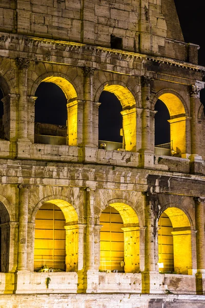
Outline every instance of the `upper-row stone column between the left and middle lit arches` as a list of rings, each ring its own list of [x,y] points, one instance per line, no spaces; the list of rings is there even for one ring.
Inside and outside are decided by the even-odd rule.
[[[93,75],[94,69],[84,67],[84,145],[93,147]]]

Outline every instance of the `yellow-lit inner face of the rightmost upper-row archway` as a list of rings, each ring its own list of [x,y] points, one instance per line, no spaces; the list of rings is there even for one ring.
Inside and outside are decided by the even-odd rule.
[[[180,99],[173,93],[164,93],[160,95],[159,100],[167,106],[170,114],[170,120],[168,120],[170,123],[169,142],[171,142],[172,154],[175,156],[181,156],[181,154],[186,153],[187,118],[185,107]],[[166,129],[166,127],[164,129]]]

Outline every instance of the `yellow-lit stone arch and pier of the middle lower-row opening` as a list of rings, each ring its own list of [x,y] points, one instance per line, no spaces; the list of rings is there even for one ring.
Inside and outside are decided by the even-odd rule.
[[[106,208],[104,208],[104,210],[101,212],[101,215],[102,214],[108,215],[108,213],[106,212],[106,209],[108,207],[114,208],[117,211],[117,213],[120,215],[122,222],[123,222],[123,227],[121,229],[124,232],[124,259],[122,260],[124,262],[124,269],[126,273],[136,273],[136,272],[139,272],[139,268],[140,268],[140,264],[139,264],[139,261],[140,261],[139,260],[139,221],[138,221],[138,217],[134,209],[128,204],[125,204],[124,202],[119,202],[119,201],[121,200],[119,199],[110,200],[108,202],[108,206],[106,206]],[[113,221],[115,221],[115,219]],[[101,223],[103,222],[101,221]],[[111,224],[112,224],[112,219],[111,219],[111,211],[110,211],[110,232],[111,232]],[[106,230],[104,230],[104,223],[103,223],[103,228],[101,229],[100,234],[103,235],[103,233],[105,232]],[[109,247],[112,247],[112,243],[111,243],[112,233],[109,234],[109,236],[110,236],[109,238],[110,246]],[[101,241],[101,243],[104,243],[104,242]]]

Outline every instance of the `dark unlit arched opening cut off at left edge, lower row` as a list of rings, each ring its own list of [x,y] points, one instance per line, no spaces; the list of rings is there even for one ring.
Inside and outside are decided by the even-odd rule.
[[[9,272],[10,224],[6,207],[0,202],[0,272]]]

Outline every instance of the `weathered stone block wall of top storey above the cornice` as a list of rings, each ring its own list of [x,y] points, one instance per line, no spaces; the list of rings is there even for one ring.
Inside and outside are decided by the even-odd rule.
[[[195,62],[183,42],[173,0],[77,1],[3,1],[0,4],[0,30],[19,34],[111,47],[111,36],[121,38],[129,51],[169,56]],[[177,36],[176,34],[177,33]],[[173,48],[170,48],[170,45]],[[120,44],[119,44],[120,45]],[[181,48],[183,47],[183,48]],[[170,52],[170,49],[172,50]],[[194,49],[193,49],[194,50]]]

